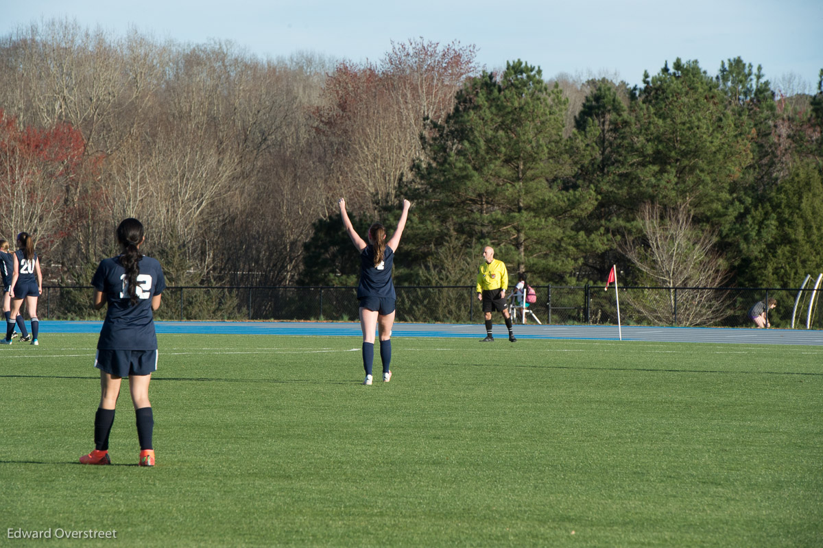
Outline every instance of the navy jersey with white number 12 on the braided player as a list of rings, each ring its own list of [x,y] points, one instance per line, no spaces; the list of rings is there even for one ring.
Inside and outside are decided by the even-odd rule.
[[[108,303],[98,350],[156,350],[157,334],[151,298],[165,290],[165,277],[160,262],[143,257],[137,276],[137,304],[128,297],[126,270],[119,257],[100,261],[91,285],[102,291]]]

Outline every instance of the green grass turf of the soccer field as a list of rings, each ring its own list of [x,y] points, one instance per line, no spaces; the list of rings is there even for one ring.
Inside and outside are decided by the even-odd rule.
[[[164,335],[147,469],[95,342],[0,348],[2,546],[823,544],[823,347]]]

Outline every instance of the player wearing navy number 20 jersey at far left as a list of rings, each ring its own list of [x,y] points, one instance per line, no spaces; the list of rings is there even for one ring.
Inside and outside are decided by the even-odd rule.
[[[37,341],[40,332],[40,320],[37,319],[37,298],[43,292],[43,273],[40,272],[40,258],[35,253],[35,240],[28,232],[21,232],[17,235],[17,247],[12,260],[14,261],[14,274],[12,275],[12,290],[9,295],[12,297],[12,311],[6,322],[6,338],[2,344],[12,344],[12,333],[14,333],[15,323],[20,327],[21,341],[31,341],[34,346],[40,345]],[[26,323],[20,314],[23,300],[26,300],[26,309],[29,310],[31,320],[31,337],[26,332]],[[12,321],[12,318],[15,318]]]

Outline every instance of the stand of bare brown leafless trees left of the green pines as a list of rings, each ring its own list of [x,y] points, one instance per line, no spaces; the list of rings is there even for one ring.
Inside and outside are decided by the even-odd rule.
[[[6,219],[58,231],[53,259],[72,281],[114,253],[124,216],[145,222],[176,281],[295,281],[312,223],[342,194],[361,210],[393,201],[423,118],[448,113],[477,68],[473,47],[422,39],[360,67],[306,52],[261,61],[230,42],[116,37],[67,19],[21,28],[0,52],[0,104],[18,125],[81,136],[70,176],[30,155],[4,164],[16,171],[7,186],[29,181],[8,193],[26,215]]]

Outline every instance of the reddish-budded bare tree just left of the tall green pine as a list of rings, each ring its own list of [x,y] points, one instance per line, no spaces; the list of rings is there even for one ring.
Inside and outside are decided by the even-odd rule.
[[[353,210],[396,201],[398,181],[421,154],[425,117],[443,118],[477,72],[475,48],[423,39],[393,44],[382,63],[341,63],[317,109],[335,143],[335,181]]]

